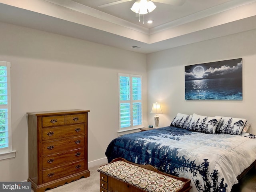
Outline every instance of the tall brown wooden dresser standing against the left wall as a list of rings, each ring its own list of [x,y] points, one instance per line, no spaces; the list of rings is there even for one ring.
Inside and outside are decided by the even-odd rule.
[[[89,177],[89,110],[28,112],[28,181],[34,192]]]

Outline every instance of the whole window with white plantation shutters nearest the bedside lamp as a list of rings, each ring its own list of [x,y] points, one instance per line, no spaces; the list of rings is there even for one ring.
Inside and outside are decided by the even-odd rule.
[[[142,128],[142,76],[118,74],[119,131]]]

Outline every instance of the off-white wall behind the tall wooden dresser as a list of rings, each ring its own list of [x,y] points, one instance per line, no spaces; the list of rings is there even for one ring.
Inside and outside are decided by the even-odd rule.
[[[84,109],[88,161],[105,158],[117,137],[118,73],[141,74],[147,124],[146,55],[0,23],[0,60],[11,62],[12,136],[16,158],[0,161],[0,181],[28,178],[26,112]]]

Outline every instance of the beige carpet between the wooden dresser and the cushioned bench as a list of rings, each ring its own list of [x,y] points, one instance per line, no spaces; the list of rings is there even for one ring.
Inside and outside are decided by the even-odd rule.
[[[65,185],[48,189],[45,192],[99,192],[100,173],[97,171],[99,166],[90,168],[90,177],[67,183]],[[33,192],[33,190],[31,190]]]

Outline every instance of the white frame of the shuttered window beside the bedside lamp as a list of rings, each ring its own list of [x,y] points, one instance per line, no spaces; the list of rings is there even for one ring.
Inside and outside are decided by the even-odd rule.
[[[130,83],[130,100],[126,100],[126,101],[121,101],[120,100],[120,76],[124,76],[124,77],[129,77],[129,81],[132,82],[132,78],[140,78],[141,80],[141,99],[140,100],[133,100],[132,98],[132,83]],[[142,85],[142,75],[136,75],[136,74],[124,74],[124,73],[118,73],[118,116],[119,116],[119,131],[118,132],[125,132],[125,131],[131,131],[131,130],[137,130],[140,128],[143,128],[143,106],[142,106],[142,89],[143,89],[143,85]],[[133,103],[137,103],[140,102],[141,104],[141,124],[134,126],[134,122],[133,122]],[[129,127],[124,127],[121,128],[121,112],[120,112],[120,104],[121,103],[129,103],[130,104],[130,126]]]

